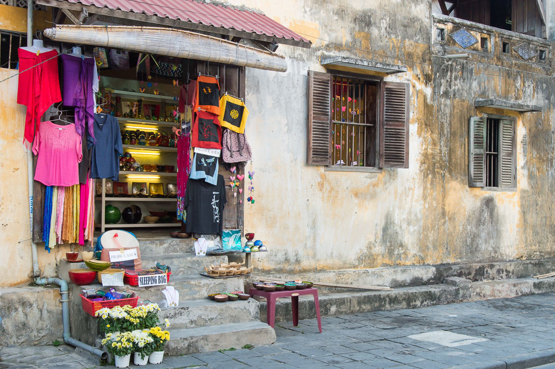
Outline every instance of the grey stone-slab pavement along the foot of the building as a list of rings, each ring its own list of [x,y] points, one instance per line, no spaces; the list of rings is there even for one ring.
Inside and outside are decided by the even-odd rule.
[[[555,294],[376,311],[276,326],[273,345],[166,357],[147,368],[509,369],[555,362]],[[228,349],[229,347],[223,347]],[[68,346],[2,348],[9,368],[94,368]],[[112,366],[104,366],[112,367]],[[131,366],[132,368],[139,368]]]

